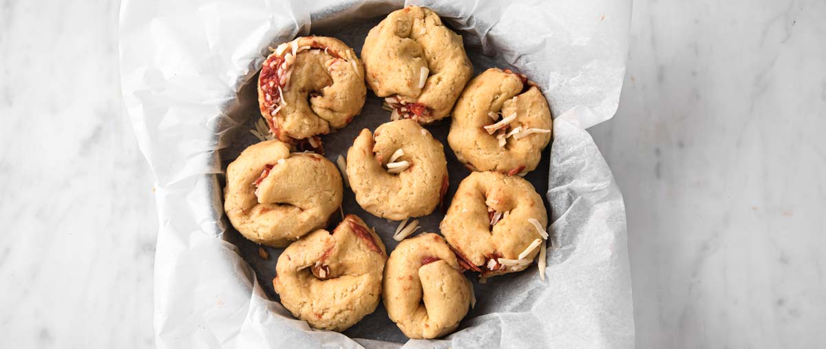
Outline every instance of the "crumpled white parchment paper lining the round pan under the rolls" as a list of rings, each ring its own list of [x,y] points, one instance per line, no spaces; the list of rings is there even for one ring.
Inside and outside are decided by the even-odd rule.
[[[364,36],[403,2],[130,2],[121,7],[121,75],[141,151],[157,178],[155,261],[158,347],[632,347],[634,323],[621,194],[584,127],[615,112],[624,74],[629,2],[409,2],[439,12],[463,35],[475,74],[525,73],[554,115],[553,146],[529,179],[553,222],[548,280],[535,265],[474,280],[477,306],[458,332],[406,341],[382,306],[344,334],[311,330],[273,293],[281,249],[240,237],[223,217],[222,170],[258,141],[253,82],[268,45],[296,35],[335,36],[360,52]],[[360,116],[322,137],[344,155],[363,127],[389,113],[368,92]],[[444,143],[453,193],[466,175],[447,145],[449,121],[428,127]],[[388,251],[397,222],[344,210],[376,227]],[[443,216],[420,218],[439,232]],[[335,223],[334,223],[335,224]]]

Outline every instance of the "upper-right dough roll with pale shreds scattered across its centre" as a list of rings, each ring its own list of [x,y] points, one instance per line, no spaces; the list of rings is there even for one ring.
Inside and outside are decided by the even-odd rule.
[[[510,70],[473,78],[453,110],[448,143],[474,171],[525,175],[551,141],[551,111],[535,84]]]

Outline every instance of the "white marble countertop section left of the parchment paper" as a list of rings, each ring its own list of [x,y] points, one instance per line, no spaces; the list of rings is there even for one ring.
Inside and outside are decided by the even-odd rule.
[[[0,2],[0,347],[151,347],[153,179],[117,2]]]

